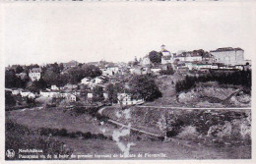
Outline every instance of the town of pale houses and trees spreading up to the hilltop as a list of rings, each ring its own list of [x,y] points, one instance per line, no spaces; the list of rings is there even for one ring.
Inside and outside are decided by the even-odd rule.
[[[6,92],[11,99],[9,104],[12,102],[11,106],[18,107],[27,104],[23,99],[44,104],[65,101],[68,104],[80,102],[83,105],[134,105],[162,96],[149,95],[152,97],[147,99],[145,94],[160,92],[159,86],[156,86],[156,90],[146,90],[143,94],[137,88],[141,83],[132,86],[136,82],[134,76],[151,76],[155,80],[156,77],[158,79],[170,76],[172,85],[177,87],[177,82],[185,77],[247,70],[251,70],[251,61],[244,59],[244,50],[241,48],[225,47],[210,52],[199,49],[171,53],[161,45],[160,51],[151,51],[145,57],[135,57],[134,61],[128,63],[100,61],[83,64],[73,60],[45,66],[9,66],[6,68]],[[155,86],[154,82],[148,84],[150,87]],[[169,97],[169,101],[172,98]]]

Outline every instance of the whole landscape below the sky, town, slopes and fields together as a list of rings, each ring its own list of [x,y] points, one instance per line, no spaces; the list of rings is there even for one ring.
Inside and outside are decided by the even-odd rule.
[[[128,63],[7,67],[6,149],[42,149],[37,159],[149,150],[204,159],[209,148],[210,157],[249,158],[251,62],[243,54],[230,47],[171,53],[162,45]],[[237,146],[243,153],[230,155]]]

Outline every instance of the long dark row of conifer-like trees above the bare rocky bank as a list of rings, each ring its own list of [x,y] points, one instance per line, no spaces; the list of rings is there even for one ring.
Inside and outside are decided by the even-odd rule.
[[[187,91],[194,87],[197,82],[219,82],[220,84],[242,85],[247,88],[251,87],[251,71],[235,71],[233,73],[216,73],[210,72],[207,75],[199,77],[189,77],[182,81],[176,82],[175,88],[177,92]]]

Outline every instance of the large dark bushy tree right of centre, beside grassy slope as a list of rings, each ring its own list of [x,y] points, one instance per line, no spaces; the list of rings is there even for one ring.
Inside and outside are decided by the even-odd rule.
[[[143,98],[153,101],[161,96],[160,88],[150,75],[135,75],[129,82],[130,92],[133,98]]]

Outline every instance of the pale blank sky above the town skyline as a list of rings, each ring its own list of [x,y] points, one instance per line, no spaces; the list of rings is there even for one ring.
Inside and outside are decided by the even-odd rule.
[[[256,52],[256,3],[41,3],[4,7],[5,66],[128,62],[160,51]],[[254,20],[254,21],[253,21]]]

